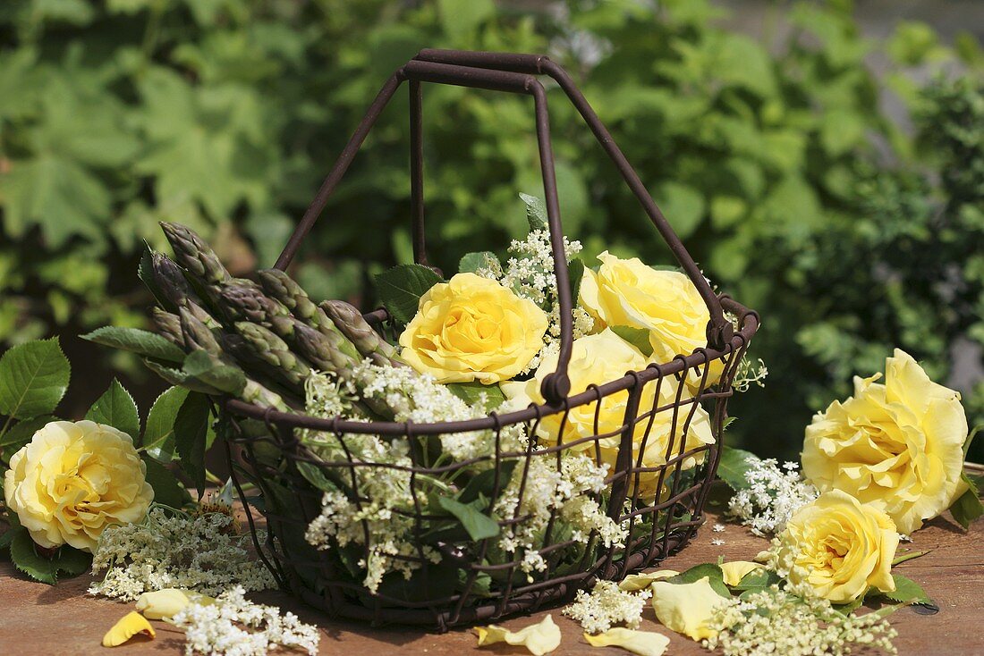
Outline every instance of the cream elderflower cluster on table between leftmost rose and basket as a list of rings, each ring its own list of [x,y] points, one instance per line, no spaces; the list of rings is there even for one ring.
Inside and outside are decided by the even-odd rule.
[[[139,524],[111,526],[99,536],[92,571],[107,569],[91,594],[134,601],[144,592],[183,588],[215,596],[230,585],[266,590],[276,583],[247,551],[230,514],[176,514],[155,507]]]

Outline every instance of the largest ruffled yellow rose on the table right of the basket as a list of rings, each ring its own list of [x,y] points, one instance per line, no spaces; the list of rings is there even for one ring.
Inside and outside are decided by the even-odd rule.
[[[948,507],[960,480],[967,417],[960,394],[929,380],[895,349],[881,375],[854,379],[854,395],[814,417],[803,444],[803,473],[821,491],[843,490],[881,507],[902,533]]]

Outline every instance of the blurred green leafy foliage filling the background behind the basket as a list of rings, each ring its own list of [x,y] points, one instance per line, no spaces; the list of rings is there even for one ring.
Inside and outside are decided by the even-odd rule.
[[[847,2],[775,5],[761,39],[700,0],[8,0],[0,5],[0,341],[139,325],[155,221],[234,270],[277,257],[385,79],[421,47],[548,52],[579,82],[695,258],[764,318],[767,388],[734,432],[794,451],[811,412],[898,346],[946,381],[984,343],[984,85],[972,38],[859,35]],[[780,9],[781,8],[781,11]],[[770,27],[769,27],[770,26]],[[890,62],[886,84],[865,66]],[[946,69],[921,88],[907,67]],[[956,74],[954,71],[958,71]],[[912,111],[903,130],[889,90]],[[551,121],[566,232],[588,257],[668,253],[563,94]],[[295,271],[367,298],[410,259],[406,94]],[[428,86],[432,261],[502,252],[541,187],[528,98]],[[984,386],[964,390],[984,420]]]

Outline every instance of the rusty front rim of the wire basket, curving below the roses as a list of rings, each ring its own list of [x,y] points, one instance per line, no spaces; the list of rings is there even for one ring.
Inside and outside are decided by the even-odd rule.
[[[551,414],[563,412],[571,407],[596,401],[601,397],[631,388],[637,382],[645,384],[656,378],[679,374],[686,369],[698,367],[706,362],[716,360],[728,353],[734,352],[737,349],[746,347],[761,325],[758,313],[754,310],[749,310],[729,296],[722,295],[720,301],[721,306],[725,310],[735,313],[741,323],[741,328],[734,332],[730,343],[725,348],[720,350],[709,347],[698,348],[690,355],[677,355],[670,362],[650,364],[646,369],[628,372],[620,379],[609,381],[603,385],[588,388],[585,391],[568,396],[562,403],[530,404],[523,409],[504,414],[490,412],[488,416],[476,419],[419,424],[412,422],[361,422],[341,419],[339,417],[325,419],[322,417],[312,417],[304,413],[281,412],[272,407],[247,403],[246,401],[231,397],[223,399],[220,405],[223,409],[234,415],[261,420],[267,424],[281,428],[302,428],[338,435],[405,436],[410,433],[413,435],[441,435],[499,429],[503,426],[535,421]]]

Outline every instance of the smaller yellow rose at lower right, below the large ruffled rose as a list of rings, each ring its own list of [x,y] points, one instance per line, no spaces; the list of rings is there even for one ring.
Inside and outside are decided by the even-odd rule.
[[[869,587],[895,589],[898,533],[888,514],[833,490],[801,507],[778,536],[777,569],[818,597],[846,604]]]

